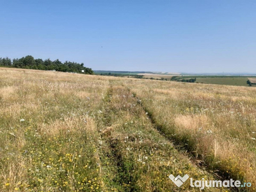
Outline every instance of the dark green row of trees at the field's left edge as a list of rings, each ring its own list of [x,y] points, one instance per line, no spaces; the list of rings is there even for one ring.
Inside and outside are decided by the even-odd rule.
[[[60,60],[51,61],[50,59],[34,59],[33,56],[26,56],[13,60],[8,57],[0,58],[0,66],[93,74],[92,68],[84,67],[84,63],[70,61],[62,63]]]

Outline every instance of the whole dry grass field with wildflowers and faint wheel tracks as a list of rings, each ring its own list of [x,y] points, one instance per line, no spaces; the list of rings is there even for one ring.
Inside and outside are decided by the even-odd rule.
[[[255,93],[0,68],[0,191],[200,191],[171,173],[256,191]]]

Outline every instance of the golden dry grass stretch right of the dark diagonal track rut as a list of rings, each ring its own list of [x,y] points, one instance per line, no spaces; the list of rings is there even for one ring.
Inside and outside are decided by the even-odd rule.
[[[255,186],[255,88],[146,81],[127,86],[166,138],[219,175]]]

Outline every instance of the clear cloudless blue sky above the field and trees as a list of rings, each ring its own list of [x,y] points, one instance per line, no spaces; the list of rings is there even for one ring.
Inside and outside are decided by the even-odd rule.
[[[256,1],[0,0],[0,57],[256,73]]]

